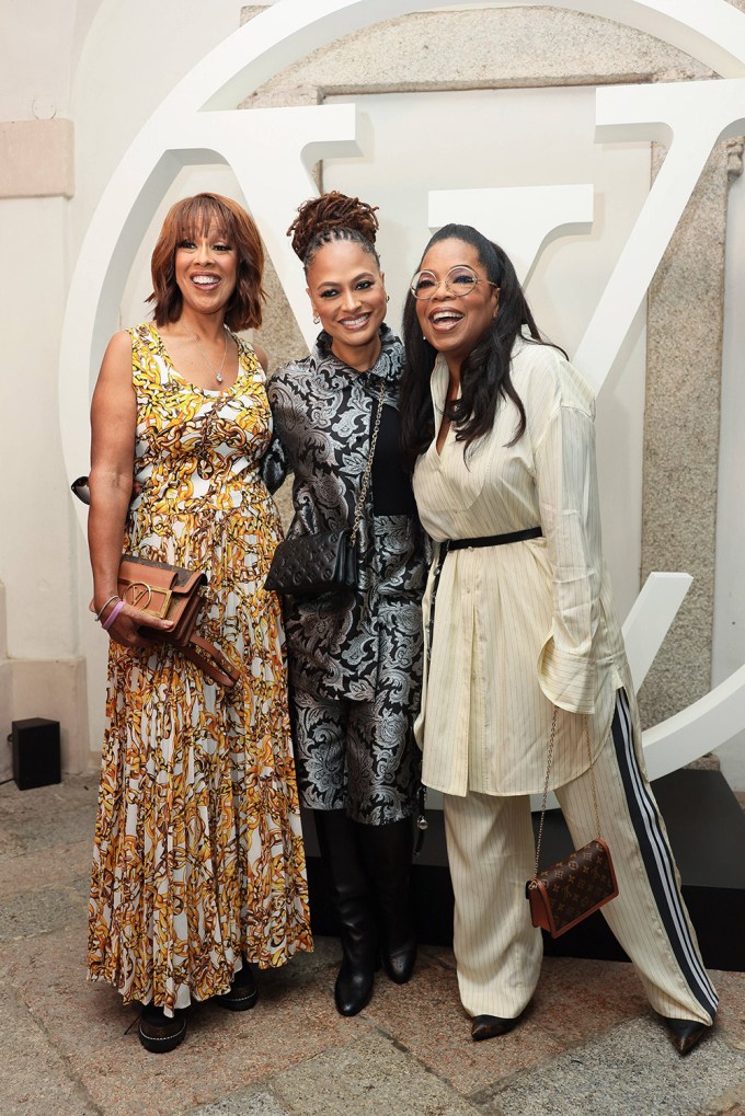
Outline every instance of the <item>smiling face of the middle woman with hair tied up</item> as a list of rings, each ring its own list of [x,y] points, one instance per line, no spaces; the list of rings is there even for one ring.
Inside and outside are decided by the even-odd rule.
[[[375,257],[353,240],[333,240],[313,257],[307,280],[313,311],[332,338],[334,356],[352,368],[370,368],[385,318],[384,276]]]

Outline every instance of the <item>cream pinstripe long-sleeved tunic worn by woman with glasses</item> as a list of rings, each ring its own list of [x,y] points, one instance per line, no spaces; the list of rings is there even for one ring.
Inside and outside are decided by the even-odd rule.
[[[537,539],[450,551],[437,586],[437,562],[430,571],[417,739],[424,783],[449,795],[543,790],[554,705],[552,788],[588,769],[576,714],[588,714],[593,757],[608,740],[620,686],[638,718],[601,554],[592,389],[556,349],[523,338],[512,377],[527,415],[523,437],[509,445],[518,413],[500,401],[490,434],[465,452],[451,426],[441,454],[433,442],[413,478],[436,542],[543,529]],[[439,356],[436,416],[447,387]]]

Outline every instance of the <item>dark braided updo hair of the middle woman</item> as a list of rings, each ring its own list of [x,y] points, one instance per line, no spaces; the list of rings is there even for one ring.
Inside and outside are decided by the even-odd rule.
[[[380,267],[380,257],[375,251],[379,229],[376,209],[378,205],[367,205],[359,198],[347,198],[337,190],[303,202],[287,235],[293,238],[293,251],[303,263],[306,276],[318,249],[335,240],[351,240],[360,244]]]

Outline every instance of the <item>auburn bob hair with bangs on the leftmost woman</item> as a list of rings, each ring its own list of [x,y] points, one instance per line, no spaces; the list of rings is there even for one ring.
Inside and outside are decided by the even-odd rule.
[[[183,299],[175,281],[175,253],[183,240],[203,235],[217,225],[236,252],[236,289],[226,307],[228,329],[257,329],[261,325],[261,302],[266,294],[264,246],[256,224],[237,202],[221,194],[195,194],[184,198],[169,210],[151,260],[153,292],[147,298],[154,306],[156,326],[178,321]]]

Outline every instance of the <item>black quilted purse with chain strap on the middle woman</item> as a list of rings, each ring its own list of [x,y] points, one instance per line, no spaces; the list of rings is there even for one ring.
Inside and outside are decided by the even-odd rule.
[[[357,535],[362,509],[370,487],[372,461],[383,414],[384,393],[385,379],[380,385],[378,414],[370,440],[367,464],[354,509],[352,529],[344,527],[333,531],[319,531],[316,535],[298,535],[294,539],[280,542],[274,552],[265,588],[293,597],[316,597],[333,589],[356,589]]]

